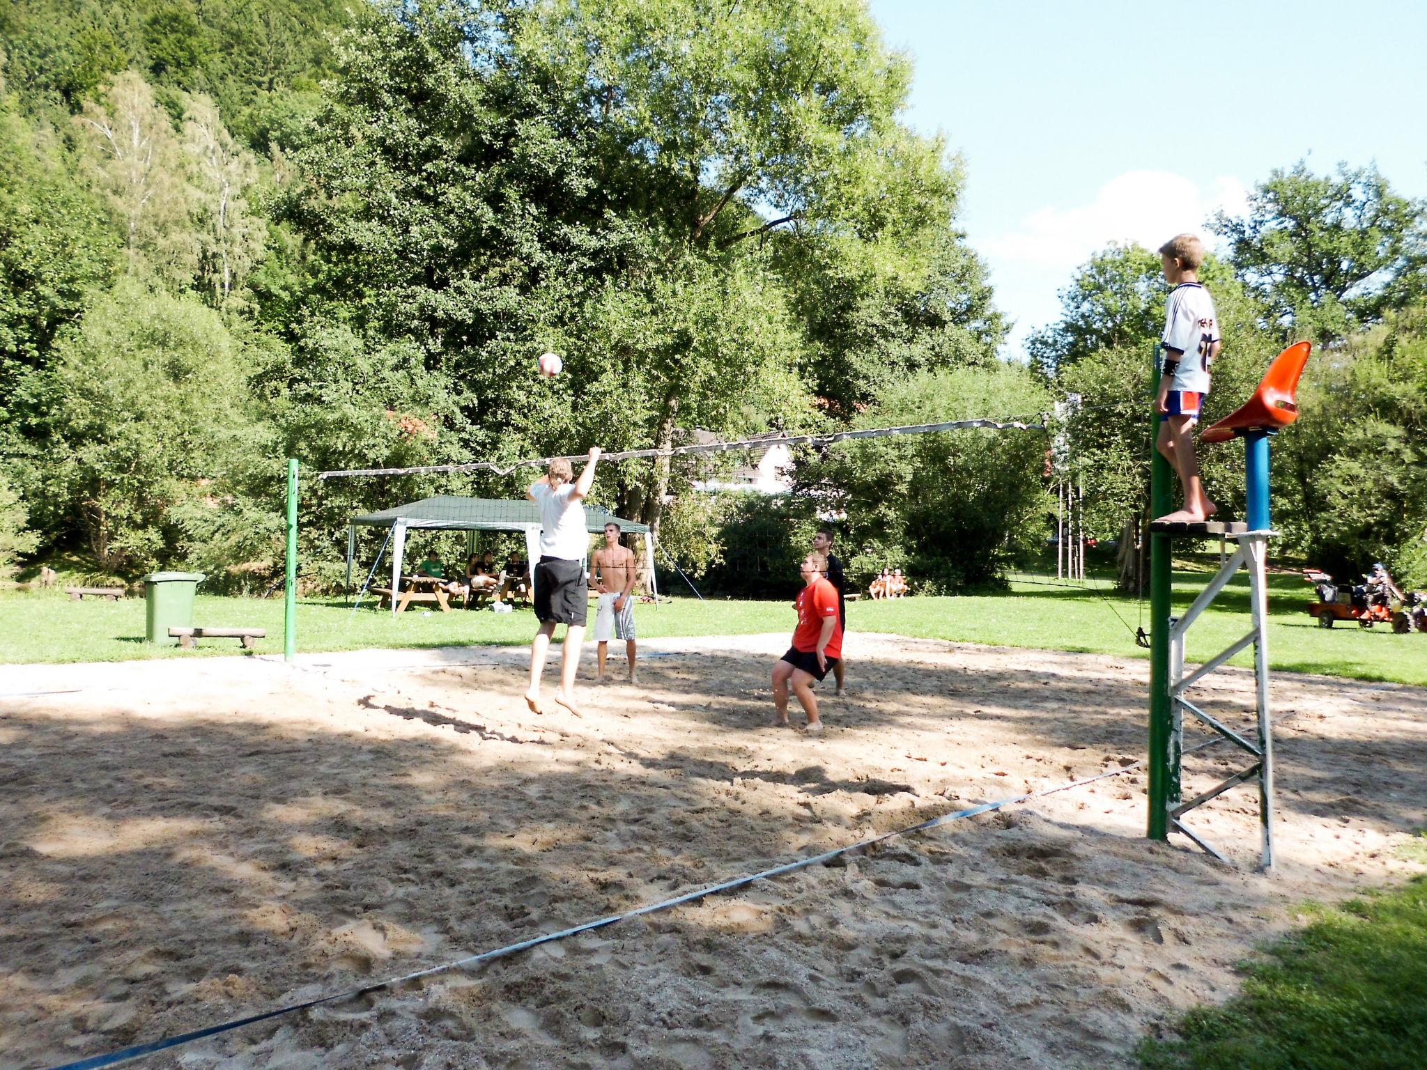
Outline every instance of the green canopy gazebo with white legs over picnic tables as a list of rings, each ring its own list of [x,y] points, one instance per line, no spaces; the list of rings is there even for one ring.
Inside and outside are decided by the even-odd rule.
[[[654,532],[648,524],[626,521],[615,516],[608,509],[598,505],[585,504],[585,529],[602,534],[609,522],[619,525],[622,532],[644,535],[644,565],[649,578],[649,593],[656,595],[654,578]],[[522,531],[525,532],[525,554],[531,562],[531,593],[534,593],[535,562],[539,561],[539,506],[532,501],[514,501],[505,498],[462,498],[454,494],[442,494],[435,498],[422,498],[418,502],[407,502],[381,512],[367,512],[352,516],[347,528],[347,589],[352,585],[352,561],[357,556],[357,528],[388,528],[391,534],[391,589],[401,586],[401,561],[407,549],[407,532],[412,528],[422,531]],[[384,544],[385,545],[385,544]],[[468,554],[469,554],[468,542]],[[381,552],[377,559],[380,562]],[[375,571],[377,564],[372,564]],[[397,599],[391,599],[392,612],[397,611]]]

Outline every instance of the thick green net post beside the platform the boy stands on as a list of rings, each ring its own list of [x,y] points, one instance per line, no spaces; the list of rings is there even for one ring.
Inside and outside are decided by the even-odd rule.
[[[1152,382],[1159,388],[1159,347],[1154,347]],[[1173,509],[1173,478],[1169,461],[1154,442],[1159,438],[1160,417],[1150,409],[1150,515],[1163,516]],[[1169,743],[1172,710],[1169,696],[1169,615],[1170,615],[1170,539],[1169,535],[1149,535],[1150,544],[1150,813],[1152,840],[1169,839],[1169,798],[1172,792]]]

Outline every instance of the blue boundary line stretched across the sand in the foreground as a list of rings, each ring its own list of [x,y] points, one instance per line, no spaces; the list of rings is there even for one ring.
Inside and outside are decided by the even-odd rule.
[[[1209,740],[1209,745],[1219,742],[1217,739]],[[1206,745],[1200,745],[1206,746]],[[1200,748],[1193,748],[1194,750]],[[1187,752],[1186,752],[1187,753]],[[1006,806],[1015,806],[1016,803],[1027,802],[1029,799],[1040,799],[1047,795],[1055,795],[1056,792],[1067,792],[1072,788],[1083,788],[1086,785],[1095,783],[1096,780],[1106,780],[1112,776],[1123,776],[1124,773],[1137,769],[1144,765],[1143,759],[1120,769],[1112,769],[1107,773],[1097,773],[1096,776],[1086,778],[1085,780],[1075,780],[1072,783],[1060,785],[1059,788],[1046,788],[1039,792],[1026,792],[1025,795],[1017,795],[1010,799],[1000,799],[999,802],[980,803],[979,806],[969,806],[963,810],[953,810],[952,813],[943,813],[940,817],[929,817],[918,825],[910,825],[905,829],[896,829],[893,832],[883,832],[879,836],[872,836],[865,840],[858,840],[856,843],[849,843],[845,847],[833,847],[822,855],[813,855],[812,857],[798,859],[796,862],[786,862],[782,866],[773,866],[772,869],[759,870],[758,873],[749,873],[742,877],[733,877],[732,880],[725,880],[718,885],[711,885],[709,887],[698,889],[696,892],[685,892],[682,896],[675,896],[674,899],[665,899],[658,903],[649,903],[645,906],[634,907],[632,910],[625,910],[624,913],[609,914],[608,917],[599,917],[594,922],[584,922],[581,924],[572,926],[569,929],[561,929],[554,933],[544,933],[541,936],[534,936],[529,940],[521,940],[519,943],[507,944],[505,947],[497,947],[491,952],[481,952],[479,954],[471,954],[464,959],[455,959],[452,962],[441,963],[440,966],[428,966],[424,970],[414,970],[412,973],[404,973],[400,977],[388,977],[387,980],[377,982],[375,984],[364,984],[360,989],[347,989],[345,992],[337,992],[331,996],[320,996],[317,999],[304,1000],[301,1003],[290,1003],[274,1010],[263,1012],[261,1014],[250,1014],[243,1019],[234,1019],[231,1021],[224,1021],[217,1026],[208,1026],[205,1029],[198,1029],[191,1033],[180,1033],[177,1036],[164,1037],[160,1040],[151,1040],[147,1044],[134,1044],[131,1047],[124,1047],[117,1051],[110,1051],[103,1056],[91,1056],[88,1059],[81,1059],[76,1063],[61,1063],[50,1067],[49,1070],[100,1070],[100,1067],[118,1066],[120,1063],[127,1063],[134,1059],[141,1059],[144,1056],[151,1056],[157,1051],[164,1051],[170,1047],[178,1047],[180,1044],[188,1044],[194,1040],[203,1040],[204,1037],[218,1036],[220,1033],[228,1033],[234,1029],[241,1029],[243,1026],[251,1026],[258,1021],[267,1021],[268,1019],[281,1017],[284,1014],[293,1014],[298,1010],[310,1010],[313,1007],[320,1007],[325,1003],[338,1003],[342,1000],[357,999],[358,996],[365,996],[371,992],[380,992],[382,989],[391,989],[407,982],[418,980],[421,977],[431,977],[437,973],[448,973],[450,970],[464,969],[467,966],[477,966],[479,963],[494,962],[495,959],[505,959],[511,954],[519,954],[521,952],[528,952],[532,947],[539,947],[545,943],[554,943],[555,940],[564,940],[568,936],[578,936],[579,933],[588,933],[595,929],[604,929],[605,926],[615,924],[618,922],[626,922],[631,917],[639,917],[642,914],[652,914],[659,910],[668,910],[675,906],[682,906],[684,903],[694,903],[706,896],[719,895],[722,892],[732,892],[735,889],[743,887],[753,883],[755,880],[766,880],[769,877],[779,877],[785,873],[793,873],[799,869],[806,869],[808,866],[816,866],[823,862],[829,862],[839,855],[849,855],[852,852],[865,850],[876,843],[883,843],[889,839],[898,836],[909,836],[915,832],[926,832],[928,829],[935,829],[940,825],[949,825],[955,820],[962,820],[965,817],[975,817],[982,813],[992,813],[993,810],[1000,810]]]

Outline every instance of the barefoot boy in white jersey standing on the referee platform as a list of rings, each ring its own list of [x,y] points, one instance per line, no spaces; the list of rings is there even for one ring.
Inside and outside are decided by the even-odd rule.
[[[1169,524],[1202,524],[1213,516],[1216,506],[1204,494],[1199,478],[1199,458],[1194,455],[1194,424],[1209,394],[1209,370],[1219,355],[1222,340],[1214,300],[1199,281],[1199,267],[1204,263],[1204,245],[1193,234],[1177,234],[1159,250],[1164,281],[1173,290],[1164,312],[1164,367],[1160,374],[1154,411],[1160,414],[1156,448],[1164,455],[1180,486],[1184,488],[1184,508],[1156,521]]]

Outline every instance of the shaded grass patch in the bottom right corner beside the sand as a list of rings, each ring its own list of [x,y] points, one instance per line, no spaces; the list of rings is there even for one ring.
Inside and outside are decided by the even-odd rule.
[[[1416,1070],[1427,1050],[1427,877],[1339,907],[1243,966],[1243,992],[1147,1039],[1146,1070]]]

